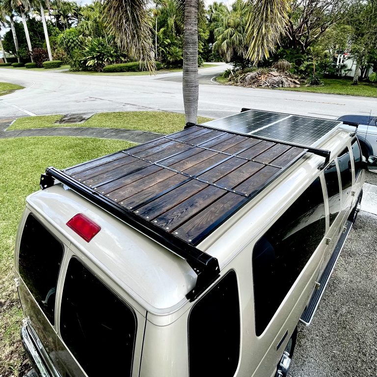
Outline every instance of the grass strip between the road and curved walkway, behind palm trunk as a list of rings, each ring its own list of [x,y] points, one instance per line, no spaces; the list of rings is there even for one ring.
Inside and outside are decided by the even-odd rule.
[[[159,134],[172,134],[185,126],[185,115],[162,111],[104,112],[93,115],[84,123],[54,124],[62,115],[42,115],[18,118],[8,130],[26,130],[45,127],[100,127],[142,130]],[[210,118],[198,117],[198,123],[208,122]]]

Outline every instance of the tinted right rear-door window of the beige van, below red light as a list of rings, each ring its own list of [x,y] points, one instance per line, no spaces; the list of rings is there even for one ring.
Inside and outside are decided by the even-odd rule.
[[[89,377],[131,375],[135,314],[76,258],[64,282],[60,333]]]

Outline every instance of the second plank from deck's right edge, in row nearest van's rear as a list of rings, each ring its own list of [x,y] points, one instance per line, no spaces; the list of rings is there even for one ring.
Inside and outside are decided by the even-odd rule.
[[[221,188],[209,186],[189,197],[181,204],[178,204],[170,211],[156,217],[153,222],[171,232],[191,217],[195,216],[198,212],[202,211],[203,208],[212,204],[219,197],[225,195],[226,192],[226,190]]]

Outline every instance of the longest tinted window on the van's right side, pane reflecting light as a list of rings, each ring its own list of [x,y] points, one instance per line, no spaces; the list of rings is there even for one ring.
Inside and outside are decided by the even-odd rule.
[[[317,178],[277,219],[253,249],[255,329],[266,329],[326,230]]]

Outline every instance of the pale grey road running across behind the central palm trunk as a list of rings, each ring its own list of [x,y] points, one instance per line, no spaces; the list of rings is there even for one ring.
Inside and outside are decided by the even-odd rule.
[[[369,114],[376,98],[214,85],[225,65],[199,70],[199,115],[219,118],[242,107],[336,118]],[[26,89],[0,97],[0,117],[69,112],[162,109],[184,112],[182,73],[156,76],[84,76],[63,72],[0,69],[0,81]],[[205,83],[206,82],[206,83]]]

